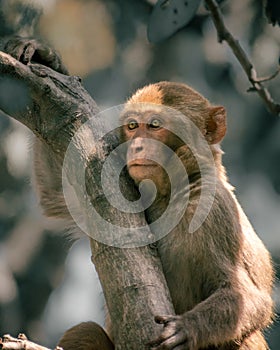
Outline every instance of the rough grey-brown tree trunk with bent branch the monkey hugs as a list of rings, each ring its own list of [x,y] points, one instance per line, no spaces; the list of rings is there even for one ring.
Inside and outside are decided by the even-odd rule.
[[[6,83],[13,87],[9,90],[9,96],[1,93],[0,109],[31,129],[36,137],[52,149],[60,162],[63,161],[75,132],[89,118],[95,116],[91,123],[93,127],[86,127],[82,137],[75,142],[75,157],[65,169],[66,175],[76,182],[75,192],[81,208],[84,209],[84,215],[87,209],[84,194],[79,187],[80,179],[75,171],[77,159],[88,164],[88,174],[91,176],[86,178],[86,187],[89,189],[90,201],[93,206],[101,209],[104,217],[126,227],[145,225],[143,213],[126,215],[116,211],[108,205],[105,196],[100,192],[100,174],[97,169],[102,168],[106,156],[117,140],[113,135],[102,141],[98,140],[97,131],[103,127],[102,120],[95,102],[83,89],[79,79],[64,76],[37,64],[23,65],[2,52],[0,74],[2,87]],[[7,98],[15,101],[15,104],[11,106],[6,103]],[[125,191],[133,197],[135,189],[131,183],[125,177],[120,181]],[[102,231],[102,225],[97,229]],[[93,239],[91,249],[92,260],[111,315],[116,348],[144,349],[145,344],[157,336],[158,328],[161,327],[155,324],[154,315],[174,314],[155,249],[150,246],[116,248]]]

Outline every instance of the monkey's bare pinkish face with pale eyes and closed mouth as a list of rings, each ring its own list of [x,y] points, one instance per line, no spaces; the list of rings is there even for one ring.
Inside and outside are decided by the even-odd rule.
[[[136,183],[151,179],[159,185],[172,151],[182,141],[166,128],[166,116],[155,111],[126,113],[123,125],[124,141],[131,141],[126,154],[130,176]]]

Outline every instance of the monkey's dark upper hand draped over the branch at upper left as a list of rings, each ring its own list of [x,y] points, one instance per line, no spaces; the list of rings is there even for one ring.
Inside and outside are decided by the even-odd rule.
[[[40,63],[59,73],[68,74],[58,53],[39,40],[15,36],[5,42],[3,51],[24,64]]]

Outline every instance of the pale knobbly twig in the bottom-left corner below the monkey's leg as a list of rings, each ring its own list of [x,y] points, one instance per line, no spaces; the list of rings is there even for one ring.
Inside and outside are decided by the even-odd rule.
[[[24,334],[19,334],[17,338],[11,337],[9,334],[0,338],[0,349],[3,350],[50,350],[44,346],[33,343],[27,339]],[[56,347],[55,350],[63,350]]]

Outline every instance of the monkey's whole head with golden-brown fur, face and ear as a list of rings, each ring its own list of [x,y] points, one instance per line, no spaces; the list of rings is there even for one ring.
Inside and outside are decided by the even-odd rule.
[[[137,184],[151,179],[160,190],[166,183],[164,169],[173,166],[169,162],[172,154],[186,143],[181,155],[190,175],[199,170],[197,155],[192,153],[197,153],[197,140],[202,138],[206,143],[202,142],[201,147],[209,149],[222,140],[226,131],[222,106],[212,106],[186,85],[169,82],[138,90],[127,102],[121,120],[122,141],[131,141],[126,153],[130,176]],[[176,169],[171,170],[175,174]]]

